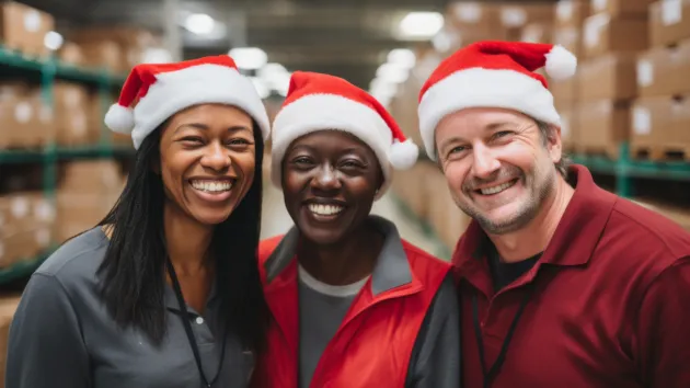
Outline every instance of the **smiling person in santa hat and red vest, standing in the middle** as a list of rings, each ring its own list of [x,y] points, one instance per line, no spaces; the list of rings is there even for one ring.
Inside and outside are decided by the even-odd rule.
[[[292,76],[273,130],[272,179],[296,226],[260,246],[274,322],[254,386],[459,387],[449,264],[370,215],[416,146],[371,95],[311,72]]]

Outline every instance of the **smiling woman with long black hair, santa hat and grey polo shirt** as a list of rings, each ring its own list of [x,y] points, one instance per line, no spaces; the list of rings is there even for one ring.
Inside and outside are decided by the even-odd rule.
[[[105,123],[131,134],[134,169],[103,221],[32,276],[5,387],[245,387],[268,317],[261,99],[228,56],[140,65]]]

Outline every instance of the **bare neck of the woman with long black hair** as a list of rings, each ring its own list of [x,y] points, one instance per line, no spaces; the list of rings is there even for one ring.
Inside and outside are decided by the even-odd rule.
[[[214,228],[202,225],[183,214],[176,206],[165,204],[163,209],[165,241],[170,261],[179,276],[204,272]]]

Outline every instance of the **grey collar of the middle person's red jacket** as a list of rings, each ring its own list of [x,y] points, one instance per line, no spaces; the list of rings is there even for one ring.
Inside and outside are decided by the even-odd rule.
[[[369,216],[369,220],[384,235],[383,248],[371,274],[371,293],[377,296],[412,283],[412,270],[395,225],[378,216]],[[298,241],[299,230],[294,226],[264,263],[268,283],[295,259]]]

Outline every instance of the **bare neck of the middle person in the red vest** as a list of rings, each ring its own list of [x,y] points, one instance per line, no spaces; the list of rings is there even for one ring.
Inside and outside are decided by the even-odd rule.
[[[299,263],[317,279],[330,285],[356,283],[373,271],[383,236],[366,224],[357,232],[334,244],[322,246],[302,239]]]

